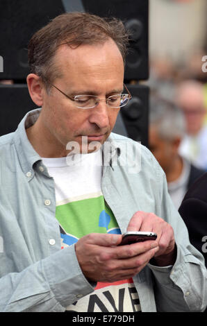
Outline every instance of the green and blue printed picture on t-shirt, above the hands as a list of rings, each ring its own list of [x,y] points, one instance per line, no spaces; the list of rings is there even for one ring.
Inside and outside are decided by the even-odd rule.
[[[62,229],[63,247],[76,243],[79,238],[92,232],[121,234],[103,195],[57,206],[56,218]]]

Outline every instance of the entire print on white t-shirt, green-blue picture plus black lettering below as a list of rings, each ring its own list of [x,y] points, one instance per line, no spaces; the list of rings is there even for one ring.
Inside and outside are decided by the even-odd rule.
[[[99,194],[94,198],[58,205],[56,218],[60,224],[62,248],[71,246],[79,238],[91,232],[121,233],[113,212],[105,203],[104,196]],[[94,293],[74,302],[67,307],[67,310],[140,311],[140,301],[132,279],[114,283],[98,282]]]

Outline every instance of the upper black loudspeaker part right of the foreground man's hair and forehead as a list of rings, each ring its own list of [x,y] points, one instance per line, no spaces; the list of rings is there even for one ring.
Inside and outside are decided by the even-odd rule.
[[[85,11],[122,19],[131,32],[124,80],[149,78],[149,0],[82,0]]]

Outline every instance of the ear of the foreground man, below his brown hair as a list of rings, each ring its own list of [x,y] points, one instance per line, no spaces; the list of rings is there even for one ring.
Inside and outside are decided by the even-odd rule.
[[[26,83],[31,99],[38,107],[41,107],[43,103],[43,85],[40,77],[35,74],[29,74],[26,78]]]

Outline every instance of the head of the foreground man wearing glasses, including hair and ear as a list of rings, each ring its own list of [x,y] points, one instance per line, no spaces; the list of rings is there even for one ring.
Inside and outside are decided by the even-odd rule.
[[[33,36],[28,89],[42,106],[38,132],[54,147],[69,141],[81,146],[82,136],[101,144],[108,138],[119,108],[110,108],[106,98],[124,88],[126,45],[121,22],[81,12],[60,15]],[[101,101],[95,108],[77,108],[74,96],[83,94]]]

